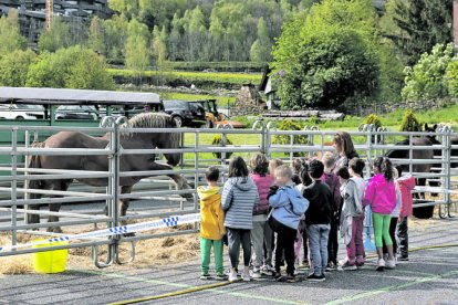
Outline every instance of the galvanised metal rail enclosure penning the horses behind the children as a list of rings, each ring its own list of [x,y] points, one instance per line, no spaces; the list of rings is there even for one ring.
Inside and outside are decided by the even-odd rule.
[[[166,235],[195,233],[198,231],[198,222],[174,231],[156,232],[154,230],[144,233],[114,234],[72,241],[66,245],[46,246],[33,249],[21,246],[18,243],[18,234],[35,234],[43,236],[65,238],[71,233],[89,232],[95,230],[94,225],[113,229],[119,228],[125,222],[142,223],[147,220],[162,220],[171,215],[186,215],[198,213],[198,198],[195,189],[202,185],[205,169],[210,165],[217,165],[223,173],[222,181],[227,177],[228,156],[237,155],[248,159],[253,152],[264,152],[271,158],[281,158],[290,164],[296,156],[315,157],[324,151],[334,151],[330,145],[336,132],[319,130],[316,127],[305,127],[303,130],[277,130],[275,124],[257,122],[252,129],[232,129],[230,126],[219,126],[216,129],[190,128],[131,128],[124,127],[114,119],[105,119],[110,124],[105,127],[49,127],[49,126],[0,126],[1,133],[10,133],[11,144],[0,147],[0,155],[9,158],[9,162],[0,166],[0,233],[11,235],[11,243],[0,245],[0,256],[34,253],[50,249],[69,249],[91,246],[93,261],[96,266],[103,267],[112,263],[123,263],[119,257],[119,244],[131,243],[131,257],[135,256],[135,241],[153,239]],[[117,122],[119,123],[119,122]],[[80,132],[92,136],[102,136],[108,139],[107,145],[98,148],[42,148],[32,145],[34,140],[55,135],[59,132]],[[145,133],[178,135],[180,146],[177,148],[131,148],[121,144],[125,133]],[[350,132],[355,149],[365,160],[365,177],[371,175],[371,165],[374,158],[386,155],[391,150],[408,151],[408,157],[394,159],[399,165],[405,165],[415,178],[424,178],[435,182],[437,187],[421,187],[416,192],[438,193],[437,197],[428,196],[427,200],[416,203],[415,208],[439,206],[441,218],[454,217],[456,212],[456,193],[458,185],[458,159],[452,151],[458,149],[452,140],[458,135],[448,127],[441,127],[427,133],[396,133],[386,129],[374,130],[372,126],[362,126],[357,132]],[[208,138],[220,136],[218,144],[208,144]],[[228,145],[228,138],[231,145]],[[288,138],[288,144],[274,144],[278,137]],[[302,137],[298,143],[298,137]],[[304,143],[304,137],[306,141]],[[413,145],[416,137],[435,137],[434,145]],[[408,139],[407,144],[396,145]],[[283,141],[284,143],[284,141]],[[418,157],[417,151],[434,150],[431,158]],[[146,169],[132,168],[125,170],[121,167],[122,158],[133,158],[136,155],[154,155],[154,162],[165,165],[163,156],[167,154],[181,154],[179,164],[173,169]],[[106,170],[59,169],[59,168],[31,168],[28,159],[32,156],[64,156],[69,161],[79,156],[98,156],[107,159]],[[25,157],[25,161],[22,161]],[[419,171],[421,165],[430,165],[427,172]],[[407,172],[406,171],[406,172]],[[186,179],[190,188],[181,188],[167,176],[180,176]],[[124,179],[139,180],[133,187],[132,192],[124,192],[119,181]],[[143,179],[142,179],[143,178]],[[106,186],[85,186],[85,179],[105,179]],[[69,189],[40,189],[31,188],[34,181],[71,181]],[[79,183],[75,181],[83,181]],[[222,182],[221,181],[221,182]],[[433,185],[433,183],[431,183]],[[37,196],[40,194],[40,196]],[[118,201],[131,201],[127,213],[121,211]],[[59,211],[53,209],[53,203],[64,204],[67,209]],[[42,209],[32,210],[31,206],[40,206]],[[50,206],[51,210],[43,208]],[[128,204],[127,204],[128,206]],[[32,223],[30,217],[50,217],[52,222]],[[53,228],[62,227],[66,234],[60,233]],[[45,230],[52,231],[49,233]],[[114,229],[117,230],[117,229]],[[107,248],[106,259],[101,261],[98,250]]]

